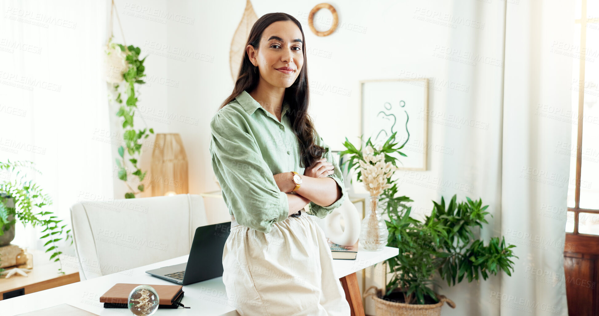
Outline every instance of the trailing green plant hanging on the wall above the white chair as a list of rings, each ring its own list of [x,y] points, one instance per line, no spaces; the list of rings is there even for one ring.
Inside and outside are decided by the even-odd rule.
[[[145,77],[144,70],[144,61],[147,56],[143,59],[139,59],[141,49],[139,47],[135,47],[132,45],[123,46],[122,44],[115,44],[109,41],[109,47],[118,46],[121,52],[125,53],[125,62],[126,62],[126,71],[123,73],[123,80],[125,83],[125,94],[126,100],[123,104],[122,100],[122,92],[118,92],[119,84],[113,84],[114,91],[117,92],[116,101],[120,104],[119,111],[116,115],[119,118],[122,118],[122,127],[123,127],[123,140],[125,142],[125,146],[119,146],[119,157],[116,158],[116,164],[119,168],[118,177],[120,180],[125,181],[125,184],[129,188],[129,192],[125,193],[125,198],[135,198],[135,194],[144,191],[143,180],[146,177],[147,171],[142,171],[140,167],[138,167],[138,160],[141,157],[141,149],[143,146],[143,140],[147,139],[150,134],[154,134],[154,130],[152,128],[146,128],[143,130],[136,130],[134,128],[133,118],[135,116],[135,110],[137,109],[137,96],[135,94],[135,85],[143,85],[144,80],[141,80],[142,77]],[[110,53],[110,52],[108,52]],[[149,133],[148,133],[149,132]],[[126,156],[129,157],[126,157]],[[132,165],[132,168],[135,171],[130,172],[129,168],[126,164],[126,161],[129,161]],[[134,188],[132,188],[128,181],[132,180],[131,176],[137,177],[137,182],[139,185],[137,186],[138,191],[136,192]]]

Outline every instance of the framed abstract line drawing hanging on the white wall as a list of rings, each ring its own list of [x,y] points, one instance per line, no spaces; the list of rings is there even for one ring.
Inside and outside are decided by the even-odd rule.
[[[398,158],[400,170],[426,170],[428,79],[362,80],[360,82],[361,131],[364,142],[384,143],[395,134],[404,144]]]

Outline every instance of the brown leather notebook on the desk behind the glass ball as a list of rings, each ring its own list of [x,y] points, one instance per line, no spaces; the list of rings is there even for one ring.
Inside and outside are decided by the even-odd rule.
[[[106,293],[100,297],[100,303],[104,303],[105,308],[127,308],[129,294],[141,284],[117,283],[114,284]],[[158,294],[158,308],[177,308],[183,306],[179,303],[183,298],[183,285],[158,285],[147,284],[153,287]],[[183,306],[185,307],[185,306]],[[189,308],[189,307],[187,307]]]

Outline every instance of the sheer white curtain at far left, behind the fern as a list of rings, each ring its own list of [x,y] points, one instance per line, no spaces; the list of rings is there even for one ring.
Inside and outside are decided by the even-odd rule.
[[[29,174],[53,200],[44,210],[65,224],[75,202],[113,197],[111,143],[118,139],[101,63],[108,8],[103,1],[0,2],[0,161],[34,161],[43,174]],[[14,244],[43,248],[40,228],[16,228]]]

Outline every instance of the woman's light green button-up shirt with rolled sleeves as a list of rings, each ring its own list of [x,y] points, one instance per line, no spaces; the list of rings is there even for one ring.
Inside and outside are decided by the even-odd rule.
[[[247,91],[222,107],[211,119],[210,155],[212,168],[222,188],[229,214],[240,225],[270,233],[274,222],[289,216],[287,194],[280,191],[273,175],[296,171],[299,167],[299,142],[292,131],[284,101],[281,121],[265,110]],[[343,193],[337,201],[320,206],[310,201],[310,213],[325,218],[343,204],[347,192],[337,161],[322,137],[316,144],[326,148],[326,161],[334,165],[332,177]]]

